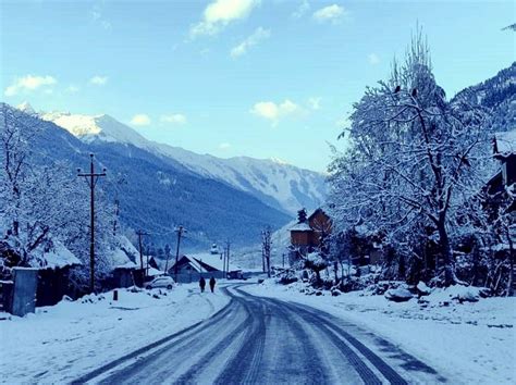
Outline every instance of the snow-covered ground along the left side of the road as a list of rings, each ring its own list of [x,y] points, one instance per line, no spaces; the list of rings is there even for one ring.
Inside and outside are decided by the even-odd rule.
[[[25,318],[0,313],[9,315],[0,321],[0,383],[70,382],[209,318],[228,302],[220,291],[200,295],[191,284],[170,291],[120,289],[118,301],[112,293],[61,301]]]

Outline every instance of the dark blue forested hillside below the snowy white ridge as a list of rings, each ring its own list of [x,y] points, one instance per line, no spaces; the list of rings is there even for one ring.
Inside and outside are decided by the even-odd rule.
[[[188,229],[185,248],[205,248],[228,238],[242,246],[258,238],[263,226],[280,227],[288,221],[287,215],[249,194],[199,176],[170,158],[132,144],[82,141],[34,115],[20,113],[20,120],[39,127],[32,138],[32,147],[37,149],[33,162],[65,162],[73,175],[77,167],[87,166],[88,154],[94,152],[99,166],[108,170],[99,186],[112,199],[115,195],[120,199],[122,223],[151,233],[151,243],[173,245],[173,228],[182,224]]]

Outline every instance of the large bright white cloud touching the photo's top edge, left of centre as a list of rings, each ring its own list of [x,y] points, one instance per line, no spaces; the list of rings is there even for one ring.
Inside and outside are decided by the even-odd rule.
[[[228,24],[247,17],[259,3],[260,0],[214,0],[206,7],[202,20],[191,27],[189,36],[216,35]]]

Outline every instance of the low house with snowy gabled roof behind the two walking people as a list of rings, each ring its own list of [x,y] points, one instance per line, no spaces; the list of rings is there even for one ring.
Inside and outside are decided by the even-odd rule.
[[[216,280],[228,276],[242,276],[242,269],[230,263],[224,269],[224,259],[221,254],[211,252],[182,256],[177,264],[173,263],[169,269],[169,275],[175,277],[177,266],[177,278],[180,283],[197,282],[201,276]]]

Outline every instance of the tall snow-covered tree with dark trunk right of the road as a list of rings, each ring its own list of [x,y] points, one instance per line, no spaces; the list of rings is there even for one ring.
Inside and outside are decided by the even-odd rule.
[[[405,61],[366,89],[349,120],[341,135],[349,146],[330,166],[336,228],[360,225],[402,245],[415,229],[431,228],[443,282],[453,284],[457,214],[484,182],[477,173],[489,141],[483,111],[447,101],[418,32]]]

